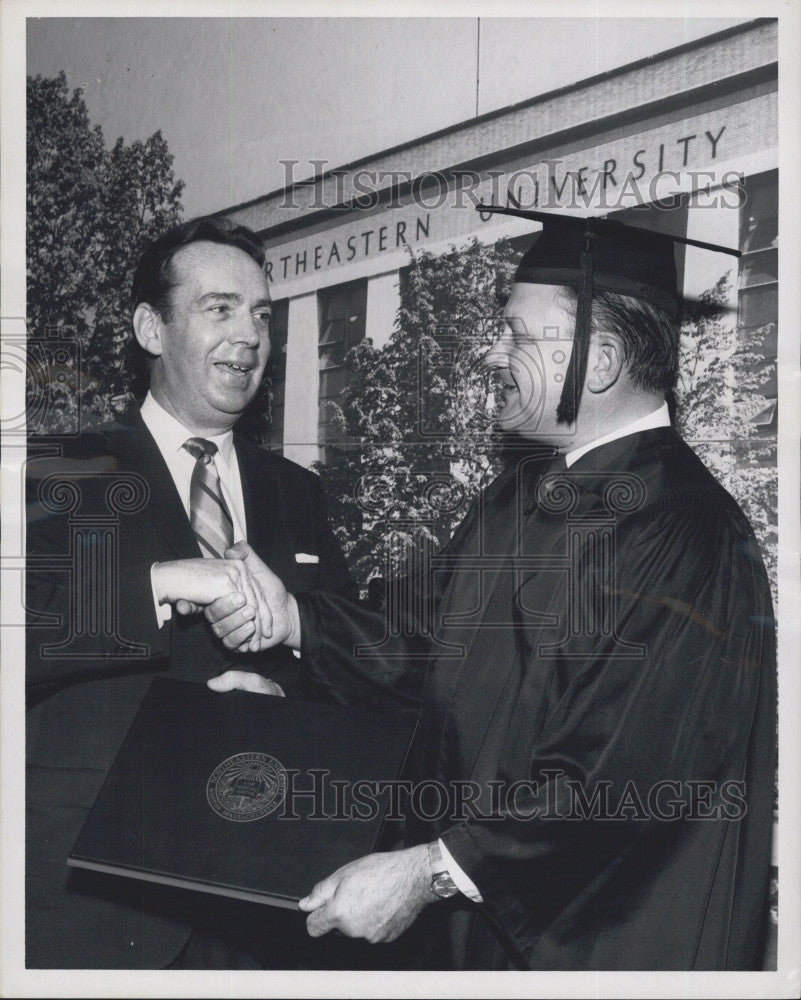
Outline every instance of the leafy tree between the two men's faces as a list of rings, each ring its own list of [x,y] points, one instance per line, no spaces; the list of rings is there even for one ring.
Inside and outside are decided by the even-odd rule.
[[[480,356],[493,339],[516,253],[508,243],[411,256],[389,342],[346,358],[335,420],[350,442],[318,471],[357,577],[394,576],[448,538],[499,468]]]

